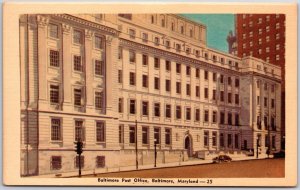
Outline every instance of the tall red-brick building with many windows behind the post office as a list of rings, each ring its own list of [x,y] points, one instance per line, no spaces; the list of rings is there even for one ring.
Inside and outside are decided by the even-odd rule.
[[[229,33],[229,53],[238,57],[253,56],[278,65],[282,73],[282,148],[285,136],[285,15],[237,14],[235,35]]]

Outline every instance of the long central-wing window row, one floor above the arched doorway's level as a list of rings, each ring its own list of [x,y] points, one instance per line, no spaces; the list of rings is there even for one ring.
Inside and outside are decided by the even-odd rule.
[[[148,101],[142,101],[141,104],[141,115],[143,116],[149,116],[149,102]],[[123,113],[123,98],[119,98],[119,113]],[[130,114],[136,114],[136,100],[130,99],[129,100],[129,113]],[[172,106],[171,104],[165,105],[165,118],[171,118],[172,117]],[[217,123],[217,111],[212,112],[212,122]],[[190,107],[185,108],[185,120],[191,120],[191,114],[192,109]],[[195,114],[195,121],[200,121],[200,109],[196,108],[194,111]],[[154,117],[160,117],[161,114],[161,103],[154,103],[153,104],[153,116]],[[175,106],[175,118],[181,119],[182,117],[182,106],[176,105]],[[227,115],[227,124],[232,125],[232,117],[233,114],[231,112],[228,112]],[[209,110],[204,110],[204,122],[209,122]],[[225,124],[225,113],[220,112],[220,124]],[[235,125],[239,125],[239,114],[235,114]]]

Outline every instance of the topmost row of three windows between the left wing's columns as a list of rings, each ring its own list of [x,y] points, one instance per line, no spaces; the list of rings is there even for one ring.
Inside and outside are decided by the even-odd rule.
[[[49,31],[49,37],[54,38],[54,39],[59,39],[59,25],[50,23],[48,25],[48,31]],[[72,39],[74,44],[81,45],[84,43],[84,32],[79,29],[73,29],[72,30]],[[104,47],[104,38],[101,35],[94,35],[94,48],[96,49],[103,49]]]

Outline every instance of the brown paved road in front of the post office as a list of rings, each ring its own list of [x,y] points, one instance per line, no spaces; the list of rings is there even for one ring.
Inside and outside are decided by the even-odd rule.
[[[158,168],[141,171],[98,174],[97,177],[141,178],[254,178],[284,177],[284,159],[235,161],[221,164],[205,164]],[[85,176],[95,177],[95,176]]]

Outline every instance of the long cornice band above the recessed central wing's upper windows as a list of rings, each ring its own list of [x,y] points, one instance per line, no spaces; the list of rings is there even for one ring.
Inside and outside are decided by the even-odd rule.
[[[135,50],[138,50],[138,51],[147,51],[147,52],[150,52],[154,55],[158,55],[158,56],[162,56],[162,57],[168,57],[168,58],[170,58],[172,60],[176,60],[178,62],[194,64],[194,65],[202,67],[202,68],[218,70],[221,73],[226,72],[228,74],[241,75],[241,72],[238,72],[238,71],[223,68],[223,67],[220,67],[220,66],[217,66],[217,65],[213,65],[213,64],[210,64],[210,63],[206,63],[206,62],[203,62],[203,61],[196,60],[194,58],[185,57],[185,56],[182,56],[182,55],[178,55],[176,53],[168,52],[168,51],[158,49],[158,48],[153,48],[153,47],[150,47],[150,46],[147,46],[147,45],[144,45],[144,44],[132,42],[132,41],[122,39],[122,38],[120,38],[120,45],[129,47],[129,48],[132,48],[132,49],[135,49]]]

